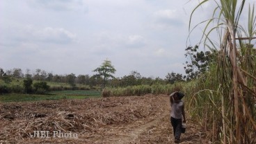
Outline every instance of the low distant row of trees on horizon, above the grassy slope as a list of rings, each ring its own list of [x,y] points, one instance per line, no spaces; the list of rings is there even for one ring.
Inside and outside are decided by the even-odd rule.
[[[30,71],[30,70],[27,70]],[[111,77],[111,79],[104,79],[102,75],[75,75],[74,73],[66,74],[66,75],[58,75],[54,73],[49,73],[42,69],[36,69],[35,73],[23,73],[22,69],[14,68],[10,70],[4,71],[4,69],[0,68],[0,80],[3,80],[6,84],[9,84],[15,78],[26,79],[31,78],[31,80],[35,81],[43,81],[43,82],[56,82],[59,83],[67,83],[70,86],[76,86],[77,84],[96,86],[103,85],[104,80],[106,80],[106,86],[111,87],[127,87],[133,85],[140,84],[167,84],[174,83],[177,81],[182,81],[182,74],[179,73],[168,73],[165,79],[162,78],[146,78],[138,73],[137,71],[131,71],[129,75],[125,75],[122,78]]]

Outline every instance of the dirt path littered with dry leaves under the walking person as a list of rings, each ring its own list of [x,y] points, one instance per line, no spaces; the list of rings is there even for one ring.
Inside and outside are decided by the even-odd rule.
[[[115,127],[109,134],[106,143],[174,143],[173,129],[170,125],[170,104],[168,98],[164,102],[159,114],[150,120],[137,121],[125,127]],[[205,134],[193,123],[187,123],[186,133],[182,134],[180,143],[208,143]]]

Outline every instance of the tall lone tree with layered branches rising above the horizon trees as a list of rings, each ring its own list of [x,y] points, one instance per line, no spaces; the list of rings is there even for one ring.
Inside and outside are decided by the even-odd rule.
[[[97,72],[94,76],[96,78],[103,77],[103,87],[106,86],[106,82],[108,78],[115,78],[111,74],[115,74],[115,68],[111,64],[110,60],[104,60],[101,66],[97,67],[97,69],[93,70],[93,72]]]

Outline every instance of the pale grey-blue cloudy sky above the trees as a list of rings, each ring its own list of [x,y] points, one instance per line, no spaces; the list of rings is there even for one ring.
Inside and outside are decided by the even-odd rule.
[[[202,35],[199,27],[187,41],[198,2],[1,0],[0,68],[93,75],[110,60],[119,78],[131,71],[151,78],[184,74],[185,48]],[[210,3],[199,8],[192,26],[211,17],[213,9]]]

